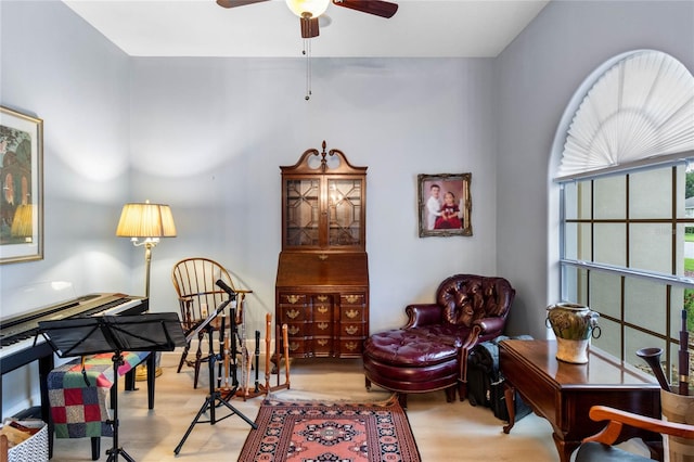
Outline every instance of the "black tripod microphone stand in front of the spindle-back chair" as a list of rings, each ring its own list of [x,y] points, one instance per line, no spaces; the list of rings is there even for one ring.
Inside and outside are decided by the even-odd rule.
[[[219,281],[218,281],[218,283],[219,283]],[[224,287],[222,287],[222,288],[224,288]],[[203,323],[201,323],[201,325],[198,325],[189,335],[189,338],[193,338],[194,336],[196,336],[197,333],[203,328],[208,330],[208,334],[210,333],[209,331],[211,330],[211,326],[209,325],[209,322],[214,318],[216,318],[220,312],[222,312],[224,310],[224,308],[227,307],[227,305],[229,305],[229,303],[232,301],[235,298],[235,294],[233,292],[230,292],[230,291],[227,291],[227,293],[229,293],[229,295],[230,295],[229,300],[223,301],[222,304],[220,304],[219,307],[215,310],[214,315],[208,317],[205,321],[203,321]],[[235,310],[233,308],[231,308],[230,316],[231,316],[232,322],[233,322],[233,319],[235,319],[234,318],[235,315],[236,315]],[[241,411],[239,411],[236,408],[231,406],[227,399],[223,399],[222,396],[221,396],[221,390],[219,388],[215,387],[215,362],[217,360],[219,360],[221,358],[221,356],[219,354],[215,354],[215,348],[214,348],[213,342],[211,342],[211,335],[208,335],[208,338],[210,338],[210,341],[209,341],[209,360],[207,361],[207,367],[209,369],[209,395],[207,395],[207,398],[205,399],[205,402],[200,408],[200,411],[197,411],[197,415],[195,415],[195,419],[193,419],[193,422],[191,422],[191,425],[188,427],[188,431],[185,432],[185,435],[183,435],[183,438],[181,439],[181,441],[178,444],[176,449],[174,449],[174,453],[175,454],[178,454],[181,451],[181,448],[183,447],[183,444],[185,442],[185,439],[188,439],[188,436],[193,431],[193,427],[198,423],[209,423],[210,425],[215,425],[217,422],[222,421],[222,420],[224,420],[227,418],[230,418],[232,415],[239,415],[241,419],[246,421],[246,423],[248,423],[248,425],[250,425],[252,428],[257,428],[258,427],[258,425],[256,425],[255,422],[253,422],[250,419],[248,419],[247,416],[242,414]],[[235,342],[235,339],[234,339],[234,342]],[[233,383],[234,383],[234,386],[233,386],[231,393],[228,395],[229,398],[234,396],[234,394],[236,393],[236,388],[239,387],[239,382],[235,378],[235,369],[234,369],[234,381],[233,381]],[[229,409],[229,411],[231,411],[231,413],[218,419],[215,411],[220,406],[223,406],[227,409]],[[209,420],[201,421],[200,418],[207,410],[209,410]]]

